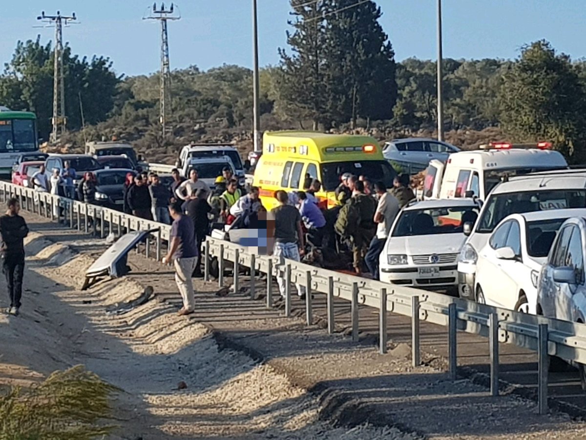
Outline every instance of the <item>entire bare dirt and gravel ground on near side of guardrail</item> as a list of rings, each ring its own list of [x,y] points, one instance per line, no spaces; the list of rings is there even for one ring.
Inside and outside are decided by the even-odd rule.
[[[85,364],[124,390],[118,438],[586,437],[586,424],[565,414],[539,417],[532,401],[452,383],[434,356],[412,368],[402,341],[379,355],[368,338],[352,343],[343,320],[330,336],[266,309],[246,289],[219,297],[217,284],[198,281],[197,312],[180,318],[171,270],[134,252],[131,275],[80,292],[103,242],[27,217],[42,234],[28,239],[22,316],[0,316],[0,386]],[[154,299],[121,316],[105,314],[147,285]],[[177,390],[180,381],[187,388]]]

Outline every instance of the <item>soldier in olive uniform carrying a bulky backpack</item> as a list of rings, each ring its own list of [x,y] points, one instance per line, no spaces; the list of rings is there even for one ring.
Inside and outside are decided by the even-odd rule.
[[[362,273],[364,256],[376,233],[373,221],[376,207],[376,200],[364,194],[364,182],[356,181],[352,197],[340,209],[334,226],[342,238],[352,243],[353,266],[358,275]]]

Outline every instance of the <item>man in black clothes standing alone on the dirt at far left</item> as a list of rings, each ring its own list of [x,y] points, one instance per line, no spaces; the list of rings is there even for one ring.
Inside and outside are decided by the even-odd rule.
[[[29,233],[18,212],[21,206],[18,199],[11,198],[8,203],[8,211],[0,217],[0,234],[2,235],[2,272],[6,275],[6,285],[10,296],[10,308],[8,313],[18,315],[21,307],[22,276],[25,272],[25,243],[24,238]]]

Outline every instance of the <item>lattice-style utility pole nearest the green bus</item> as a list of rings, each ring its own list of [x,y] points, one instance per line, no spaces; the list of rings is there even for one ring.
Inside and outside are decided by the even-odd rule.
[[[37,17],[50,25],[55,26],[55,48],[54,48],[54,67],[53,67],[53,118],[51,120],[53,131],[50,141],[56,143],[60,135],[65,133],[67,117],[65,116],[65,79],[63,76],[63,25],[67,26],[72,20],[77,20],[75,12],[71,16],[45,15],[45,11]]]

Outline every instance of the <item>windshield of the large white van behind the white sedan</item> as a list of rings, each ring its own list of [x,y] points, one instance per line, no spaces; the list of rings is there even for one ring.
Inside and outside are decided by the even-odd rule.
[[[550,189],[492,194],[485,203],[476,232],[492,232],[496,225],[510,214],[585,207],[586,189]]]

